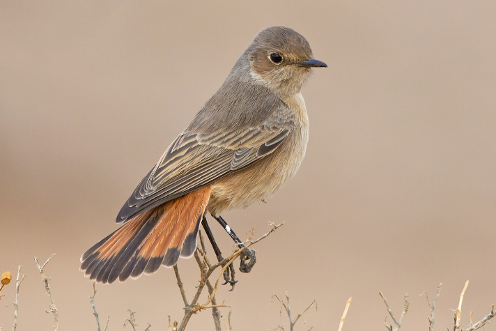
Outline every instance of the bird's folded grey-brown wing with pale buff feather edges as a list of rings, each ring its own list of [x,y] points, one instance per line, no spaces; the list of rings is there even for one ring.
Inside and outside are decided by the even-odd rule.
[[[116,222],[125,222],[166,201],[238,171],[272,153],[295,126],[287,107],[272,112],[259,125],[234,130],[185,130],[127,199]]]

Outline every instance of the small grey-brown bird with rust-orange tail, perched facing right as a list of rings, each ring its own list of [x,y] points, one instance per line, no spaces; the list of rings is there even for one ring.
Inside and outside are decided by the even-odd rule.
[[[300,167],[309,139],[300,90],[313,67],[327,66],[300,33],[258,33],[127,199],[123,226],[82,255],[84,274],[111,283],[172,267],[194,253],[206,212],[234,238],[220,213],[272,196]]]

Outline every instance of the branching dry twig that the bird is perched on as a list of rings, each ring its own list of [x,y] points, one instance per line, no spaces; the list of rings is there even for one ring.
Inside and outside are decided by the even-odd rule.
[[[183,321],[181,321],[181,323],[177,329],[178,331],[184,331],[191,316],[193,314],[196,314],[198,311],[203,310],[203,309],[212,309],[213,310],[212,314],[214,317],[214,321],[216,323],[216,328],[218,327],[219,329],[217,329],[217,330],[220,330],[220,320],[219,320],[220,316],[219,316],[219,314],[217,314],[217,311],[215,311],[214,309],[217,309],[219,307],[230,307],[230,306],[224,305],[224,304],[217,305],[215,302],[215,293],[217,292],[217,289],[219,286],[219,280],[222,278],[224,271],[226,270],[226,268],[229,267],[229,265],[231,265],[231,263],[233,263],[233,261],[235,261],[235,259],[238,259],[238,257],[240,256],[240,254],[243,252],[244,249],[247,249],[251,245],[258,243],[260,240],[267,238],[267,236],[269,236],[272,232],[276,231],[276,229],[278,229],[279,226],[282,226],[283,224],[284,224],[284,222],[282,222],[281,224],[277,224],[277,225],[274,223],[269,223],[269,226],[271,226],[271,228],[267,233],[265,233],[263,236],[261,236],[260,238],[258,238],[256,240],[251,240],[251,238],[250,238],[245,243],[243,243],[244,247],[242,249],[238,249],[233,254],[226,257],[224,260],[222,260],[218,263],[215,263],[214,265],[211,265],[210,262],[208,261],[208,259],[206,257],[206,252],[203,250],[203,247],[202,248],[196,247],[196,250],[194,251],[194,259],[196,260],[196,263],[198,263],[199,268],[200,268],[200,284],[196,288],[196,293],[194,294],[193,299],[191,300],[189,305],[186,305],[186,307],[185,307],[185,315],[183,316]],[[220,272],[219,278],[217,278],[217,281],[215,282],[215,286],[212,286],[210,284],[209,278],[212,275],[212,273],[215,270],[217,270],[217,268],[219,268],[219,267],[221,267],[222,270]],[[176,277],[178,277],[178,275],[176,275]],[[202,305],[200,305],[198,303],[198,300],[199,300],[200,295],[201,295],[203,288],[205,286],[207,286],[209,289],[209,291],[208,291],[209,296],[208,296],[207,301],[205,303],[203,303]],[[183,297],[183,301],[185,303],[187,303],[187,300],[185,300],[186,296],[185,296],[184,288],[179,288],[179,289],[181,291],[181,296]]]

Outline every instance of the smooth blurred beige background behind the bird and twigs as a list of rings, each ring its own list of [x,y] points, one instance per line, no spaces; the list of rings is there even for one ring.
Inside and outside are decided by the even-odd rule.
[[[243,236],[287,221],[235,291],[219,291],[234,330],[287,325],[271,299],[286,291],[293,314],[317,300],[305,320],[318,330],[337,329],[350,296],[343,330],[385,330],[379,290],[396,314],[408,292],[401,330],[427,330],[419,294],[440,282],[445,330],[467,279],[462,325],[472,310],[479,320],[496,302],[495,17],[495,1],[2,1],[0,271],[29,275],[17,330],[52,328],[33,263],[52,253],[61,328],[95,330],[79,256],[116,229],[135,185],[271,25],[302,33],[329,68],[304,86],[297,176],[268,204],[224,215]],[[179,267],[191,296],[195,263]],[[132,309],[141,329],[164,330],[167,314],[183,316],[175,283],[162,268],[100,285],[101,319],[121,330]],[[14,288],[1,292],[4,330]],[[210,312],[189,330],[213,330]]]

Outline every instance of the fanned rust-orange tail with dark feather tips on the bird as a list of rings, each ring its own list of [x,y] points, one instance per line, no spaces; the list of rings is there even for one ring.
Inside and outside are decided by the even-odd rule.
[[[104,284],[124,282],[191,257],[210,190],[201,187],[126,222],[81,256],[84,275]]]

